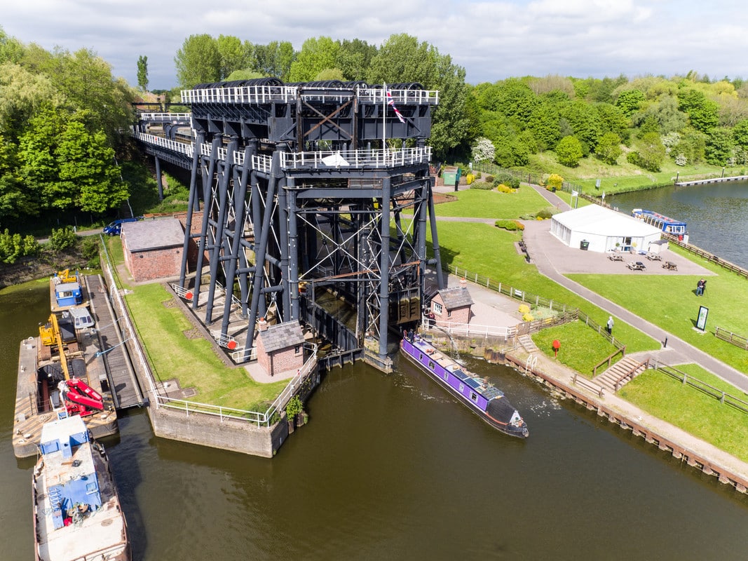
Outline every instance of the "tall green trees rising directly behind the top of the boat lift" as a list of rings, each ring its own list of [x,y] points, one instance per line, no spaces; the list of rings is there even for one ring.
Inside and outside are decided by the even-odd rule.
[[[390,36],[381,46],[366,41],[307,39],[295,51],[287,41],[254,45],[239,37],[191,35],[174,57],[179,86],[171,101],[180,101],[180,90],[211,82],[275,76],[283,82],[363,80],[370,84],[418,82],[438,90],[439,105],[432,113],[429,145],[437,159],[455,158],[470,146],[478,132],[467,104],[465,69],[453,64],[429,43],[408,34]]]

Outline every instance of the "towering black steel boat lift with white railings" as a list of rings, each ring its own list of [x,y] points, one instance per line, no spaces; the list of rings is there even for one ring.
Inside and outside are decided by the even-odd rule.
[[[203,304],[206,325],[220,319],[226,337],[239,302],[248,322],[240,361],[257,323],[271,316],[385,361],[388,334],[421,317],[427,265],[444,288],[425,144],[438,92],[257,79],[197,85],[182,96],[190,129],[182,116],[162,125],[172,138],[156,136],[150,126],[168,114],[141,114],[135,136],[156,159],[191,169],[180,286],[194,239],[192,307]],[[193,224],[200,233],[191,234]],[[325,291],[345,299],[355,318],[317,304]]]

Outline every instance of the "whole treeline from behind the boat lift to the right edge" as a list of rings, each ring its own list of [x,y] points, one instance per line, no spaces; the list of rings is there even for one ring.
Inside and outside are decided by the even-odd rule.
[[[748,83],[742,79],[712,81],[693,72],[635,79],[526,76],[470,86],[449,55],[405,34],[381,46],[317,37],[298,52],[283,41],[255,45],[192,35],[174,62],[180,88],[263,76],[420,82],[441,91],[429,139],[438,160],[523,168],[533,154],[551,151],[568,167],[583,158],[648,171],[659,171],[667,158],[681,166],[748,162]]]

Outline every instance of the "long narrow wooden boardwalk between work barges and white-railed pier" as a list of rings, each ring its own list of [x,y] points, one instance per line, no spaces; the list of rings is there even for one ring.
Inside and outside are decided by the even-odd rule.
[[[96,319],[96,331],[101,341],[101,352],[114,406],[117,409],[126,409],[143,405],[143,392],[135,378],[135,370],[132,368],[127,348],[122,344],[120,328],[111,309],[106,286],[99,275],[87,275],[85,282],[88,286],[93,317]]]

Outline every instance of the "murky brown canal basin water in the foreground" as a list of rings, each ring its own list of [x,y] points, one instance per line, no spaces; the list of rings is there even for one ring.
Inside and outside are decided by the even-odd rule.
[[[30,560],[31,468],[10,436],[17,352],[46,285],[0,292],[0,560]],[[530,438],[501,435],[397,361],[333,370],[274,459],[156,438],[104,441],[136,560],[742,560],[748,499],[506,367]],[[85,536],[82,536],[85,539]]]

